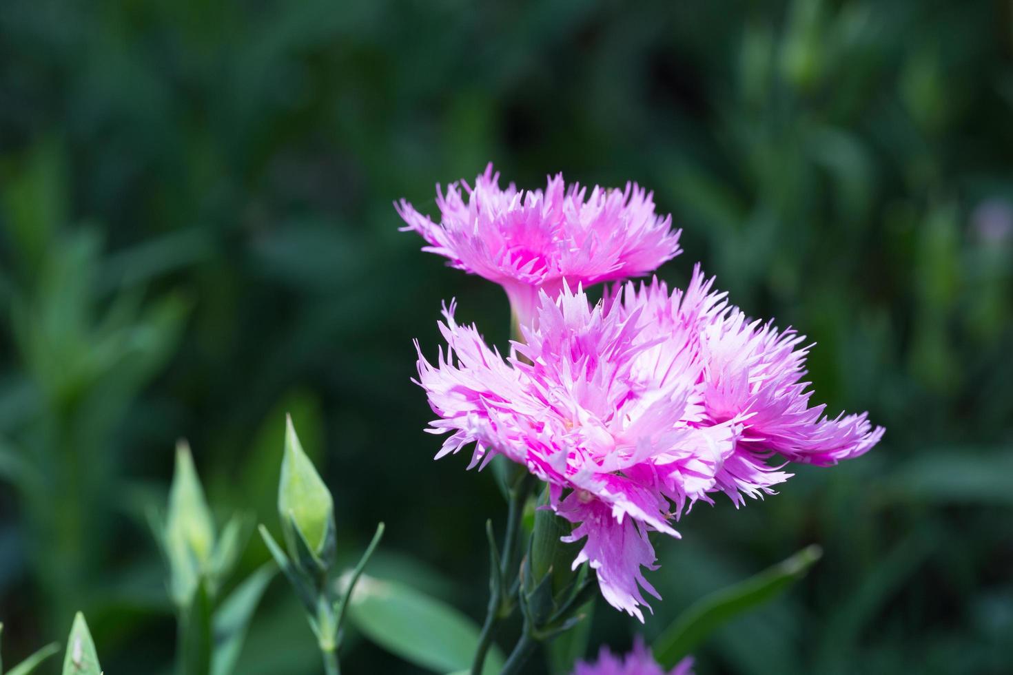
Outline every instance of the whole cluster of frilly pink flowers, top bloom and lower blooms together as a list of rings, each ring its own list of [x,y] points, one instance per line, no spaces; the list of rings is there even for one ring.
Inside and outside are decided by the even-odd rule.
[[[865,414],[810,406],[804,337],[748,319],[699,266],[685,290],[627,282],[589,302],[583,285],[677,251],[668,219],[636,188],[630,204],[609,207],[613,193],[596,188],[583,203],[576,188],[564,196],[561,178],[526,197],[499,191],[490,171],[476,185],[467,205],[456,189],[441,197],[442,226],[406,205],[402,215],[455,264],[503,283],[516,311],[519,275],[532,274],[538,294],[505,356],[455,321],[453,303],[444,309],[446,352],[435,364],[418,353],[439,416],[430,430],[449,434],[437,457],[474,444],[472,467],[502,454],[546,482],[549,508],[574,524],[565,540],[583,541],[574,568],[589,563],[613,606],[643,620],[642,592],[658,597],[644,577],[656,569],[648,532],[679,536],[672,523],[695,502],[773,494],[788,461],[833,465],[881,437]],[[504,232],[533,248],[512,252]],[[564,239],[574,232],[593,232],[594,246]],[[630,251],[635,264],[624,262]]]

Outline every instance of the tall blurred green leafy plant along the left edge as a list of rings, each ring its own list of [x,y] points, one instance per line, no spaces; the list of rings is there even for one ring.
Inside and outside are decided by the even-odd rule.
[[[21,369],[0,387],[0,478],[17,489],[34,581],[53,626],[85,592],[109,536],[116,431],[172,353],[186,303],[109,278],[96,223],[74,223],[66,146],[30,148],[0,187],[11,245],[0,299]]]

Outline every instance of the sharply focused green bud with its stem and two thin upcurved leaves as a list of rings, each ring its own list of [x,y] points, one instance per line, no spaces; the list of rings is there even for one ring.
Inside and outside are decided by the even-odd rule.
[[[292,418],[286,419],[278,513],[288,554],[263,525],[260,525],[260,536],[303,603],[323,657],[325,672],[337,675],[340,672],[337,649],[341,644],[341,627],[349,598],[380,543],[384,525],[382,522],[377,525],[376,534],[359,563],[338,583],[334,565],[337,554],[334,500],[306,456]]]

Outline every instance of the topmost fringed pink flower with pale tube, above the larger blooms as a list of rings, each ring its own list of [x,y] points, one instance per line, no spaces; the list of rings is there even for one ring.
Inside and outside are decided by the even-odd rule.
[[[489,164],[474,187],[451,183],[444,194],[438,185],[439,225],[403,199],[395,208],[407,223],[402,230],[428,242],[422,250],[500,284],[522,324],[535,318],[541,290],[555,299],[564,281],[589,286],[645,274],[680,253],[672,218],[656,216],[652,194],[635,183],[591,194],[575,183],[567,188],[562,174],[544,192],[498,183]]]

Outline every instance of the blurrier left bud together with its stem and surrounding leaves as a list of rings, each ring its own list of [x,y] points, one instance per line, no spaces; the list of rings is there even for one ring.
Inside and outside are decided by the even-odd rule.
[[[168,507],[164,517],[151,514],[151,524],[167,564],[177,612],[179,675],[230,675],[247,625],[276,573],[267,564],[222,598],[246,546],[249,517],[233,515],[216,530],[189,447],[180,442]]]

